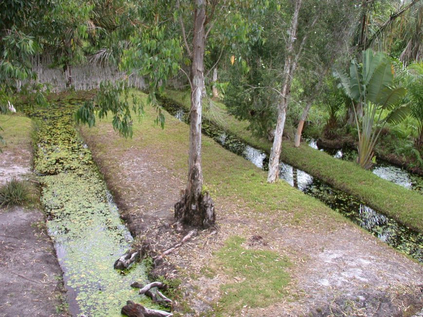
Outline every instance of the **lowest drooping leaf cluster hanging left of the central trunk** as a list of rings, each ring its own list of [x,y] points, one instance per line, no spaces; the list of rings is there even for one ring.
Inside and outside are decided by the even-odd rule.
[[[129,87],[126,82],[114,84],[102,82],[94,102],[92,100],[85,101],[84,105],[75,112],[75,120],[77,123],[88,124],[92,127],[95,125],[95,112],[102,119],[107,117],[110,111],[113,115],[113,129],[118,131],[124,138],[132,138],[132,117],[130,111],[132,110],[140,118],[144,112],[144,105],[141,100],[138,100],[132,94],[132,107],[129,107],[128,98]],[[163,116],[160,118],[163,127],[164,118]]]

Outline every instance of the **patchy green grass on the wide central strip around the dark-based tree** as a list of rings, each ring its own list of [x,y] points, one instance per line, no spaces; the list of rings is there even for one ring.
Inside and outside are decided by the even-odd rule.
[[[110,117],[97,122],[92,129],[82,129],[114,194],[124,197],[139,195],[136,184],[125,185],[117,177],[124,169],[138,168],[138,165],[130,166],[127,161],[127,164],[120,161],[134,149],[142,151],[140,153],[153,152],[152,159],[159,159],[172,176],[186,178],[189,127],[165,112],[166,124],[162,130],[153,123],[157,115],[155,110],[147,106],[145,111],[142,123],[134,120],[134,137],[130,140],[111,133]],[[113,153],[112,157],[110,153]],[[202,138],[202,163],[204,186],[215,200],[218,222],[229,217],[224,212],[230,216],[237,214],[239,223],[250,221],[255,227],[258,221],[265,219],[268,228],[257,230],[262,235],[269,234],[270,238],[281,226],[298,226],[298,230],[313,228],[325,234],[345,224],[345,218],[289,184],[268,184],[264,171],[205,136]],[[166,181],[164,178],[163,182]],[[244,241],[250,235],[248,230],[241,233],[230,230],[229,239],[208,263],[214,272],[226,274],[227,281],[230,281],[220,286],[222,295],[215,307],[222,316],[239,313],[242,305],[265,307],[286,296],[284,288],[290,278],[285,268],[290,260],[270,249],[249,249]],[[243,282],[234,284],[236,279]]]

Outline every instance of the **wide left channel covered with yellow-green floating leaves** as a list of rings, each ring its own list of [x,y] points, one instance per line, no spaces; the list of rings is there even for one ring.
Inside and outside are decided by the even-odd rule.
[[[130,287],[146,282],[144,264],[113,269],[132,237],[119,218],[91,152],[74,129],[73,105],[25,109],[42,124],[34,167],[73,316],[122,316],[127,300],[154,306]]]

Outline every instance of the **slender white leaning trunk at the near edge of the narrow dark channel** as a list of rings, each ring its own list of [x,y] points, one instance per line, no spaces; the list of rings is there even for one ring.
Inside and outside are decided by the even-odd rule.
[[[282,134],[285,125],[286,111],[288,107],[288,99],[290,96],[290,89],[292,78],[295,72],[297,58],[293,59],[294,55],[294,41],[296,39],[296,30],[298,25],[298,13],[301,7],[301,0],[295,1],[295,11],[291,22],[290,38],[287,42],[287,56],[285,58],[285,65],[283,67],[283,87],[280,93],[281,100],[277,106],[277,121],[275,129],[275,139],[273,140],[273,146],[270,151],[269,159],[269,173],[267,175],[267,181],[273,183],[279,176],[279,158],[280,151],[282,148]],[[303,41],[304,42],[304,41]],[[302,43],[303,44],[303,43]]]

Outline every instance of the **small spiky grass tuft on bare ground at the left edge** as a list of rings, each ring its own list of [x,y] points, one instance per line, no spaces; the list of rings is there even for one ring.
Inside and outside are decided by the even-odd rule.
[[[0,187],[0,207],[22,206],[29,198],[28,184],[23,180],[11,179]]]

